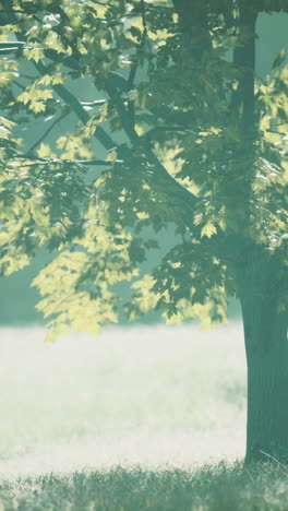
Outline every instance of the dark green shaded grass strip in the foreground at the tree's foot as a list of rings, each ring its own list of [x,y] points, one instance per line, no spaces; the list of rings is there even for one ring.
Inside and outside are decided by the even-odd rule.
[[[274,463],[197,470],[116,467],[2,480],[1,510],[279,511],[288,509],[288,470]]]

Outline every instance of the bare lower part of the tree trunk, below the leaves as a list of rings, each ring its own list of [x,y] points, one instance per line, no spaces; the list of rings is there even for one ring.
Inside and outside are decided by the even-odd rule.
[[[250,273],[241,305],[248,363],[245,461],[288,462],[287,312],[277,313],[273,264]]]

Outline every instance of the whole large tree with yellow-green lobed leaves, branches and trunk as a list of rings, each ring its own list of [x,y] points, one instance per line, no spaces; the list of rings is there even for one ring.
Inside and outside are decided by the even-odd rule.
[[[35,280],[50,336],[151,309],[223,322],[239,297],[248,461],[288,460],[285,55],[265,81],[254,73],[257,14],[281,10],[286,0],[0,8],[2,274],[40,245],[57,251]],[[177,242],[145,273],[171,225]]]

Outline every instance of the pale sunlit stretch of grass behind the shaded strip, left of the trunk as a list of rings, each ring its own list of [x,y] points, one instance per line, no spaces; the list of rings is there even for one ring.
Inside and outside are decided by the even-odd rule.
[[[244,454],[241,326],[1,329],[0,474],[191,466]]]

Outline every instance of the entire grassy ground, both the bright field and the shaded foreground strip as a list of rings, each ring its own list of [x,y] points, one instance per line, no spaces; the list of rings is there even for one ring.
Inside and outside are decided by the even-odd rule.
[[[241,464],[240,323],[44,337],[1,329],[0,511],[288,510],[285,467]]]

